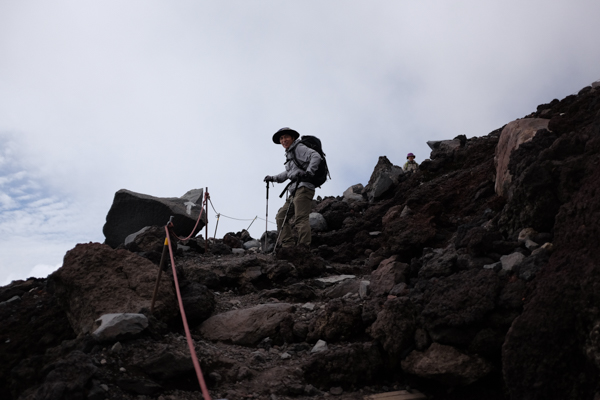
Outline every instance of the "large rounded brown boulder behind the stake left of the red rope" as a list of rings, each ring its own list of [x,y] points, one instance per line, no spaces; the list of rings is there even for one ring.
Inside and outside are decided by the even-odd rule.
[[[100,243],[78,244],[65,255],[63,266],[49,277],[49,286],[66,311],[73,330],[91,332],[104,314],[150,310],[158,267],[127,250]],[[160,281],[154,316],[168,321],[178,307],[171,281]]]

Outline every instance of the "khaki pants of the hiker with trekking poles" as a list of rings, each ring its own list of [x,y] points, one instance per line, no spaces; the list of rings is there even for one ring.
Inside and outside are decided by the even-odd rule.
[[[290,199],[288,198],[277,212],[277,230],[281,232],[280,243],[283,247],[291,247],[294,246],[294,237],[292,234],[292,226],[290,220],[294,221],[294,227],[298,231],[298,244],[304,244],[310,246],[311,234],[310,234],[310,223],[308,221],[308,216],[310,214],[310,209],[312,206],[312,198],[315,195],[314,189],[309,189],[307,187],[300,187],[296,190],[296,194],[293,197],[293,204],[290,206]],[[285,213],[288,210],[287,219],[285,217]],[[285,225],[283,225],[283,220],[285,219]]]

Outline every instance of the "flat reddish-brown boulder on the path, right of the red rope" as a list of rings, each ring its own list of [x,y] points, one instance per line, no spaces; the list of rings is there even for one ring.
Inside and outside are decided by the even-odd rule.
[[[274,339],[293,310],[292,304],[274,303],[228,311],[204,321],[199,332],[207,340],[252,346],[266,337]]]

